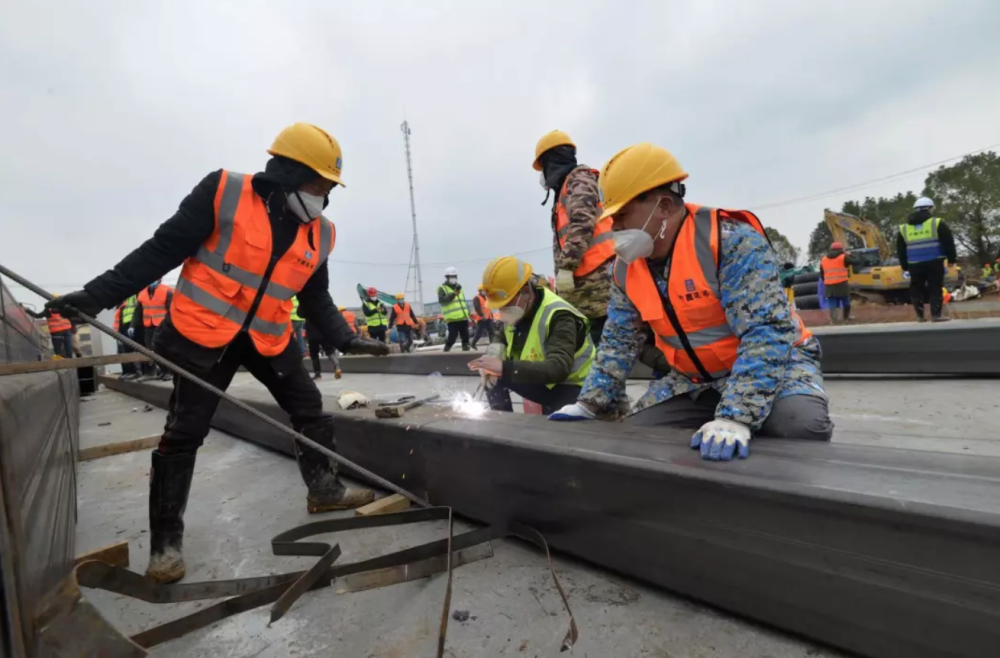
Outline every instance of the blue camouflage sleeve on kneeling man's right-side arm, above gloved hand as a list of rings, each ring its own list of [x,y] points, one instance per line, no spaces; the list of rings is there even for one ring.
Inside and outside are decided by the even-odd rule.
[[[728,220],[720,234],[721,301],[740,346],[715,417],[757,430],[787,374],[798,327],[764,236]]]

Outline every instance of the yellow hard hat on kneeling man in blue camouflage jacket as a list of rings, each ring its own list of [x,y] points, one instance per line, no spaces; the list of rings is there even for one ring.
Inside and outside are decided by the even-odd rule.
[[[603,167],[598,179],[604,212],[610,217],[643,192],[682,181],[687,172],[670,151],[649,142],[618,151]]]

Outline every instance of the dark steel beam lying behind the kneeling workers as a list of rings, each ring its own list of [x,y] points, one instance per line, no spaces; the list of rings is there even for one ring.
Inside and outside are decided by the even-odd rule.
[[[851,375],[978,375],[1000,376],[1000,320],[954,320],[942,324],[901,322],[882,325],[817,327],[823,346],[823,372]],[[477,376],[469,361],[476,352],[417,352],[388,357],[349,356],[341,368],[352,374]],[[311,368],[309,362],[306,367]],[[323,361],[324,371],[333,366]],[[652,379],[640,364],[631,379]]]

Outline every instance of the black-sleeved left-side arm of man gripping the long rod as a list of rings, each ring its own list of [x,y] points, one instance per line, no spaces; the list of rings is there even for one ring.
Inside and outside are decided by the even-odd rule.
[[[215,192],[221,178],[222,170],[205,176],[153,237],[90,281],[84,290],[101,308],[111,308],[194,255],[215,229]]]

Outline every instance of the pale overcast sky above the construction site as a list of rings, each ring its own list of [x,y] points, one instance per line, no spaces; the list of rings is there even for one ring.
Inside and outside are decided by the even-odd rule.
[[[427,298],[448,264],[467,284],[511,253],[552,272],[530,164],[553,128],[598,168],[664,146],[691,201],[759,209],[804,247],[824,207],[926,172],[769,204],[1000,142],[998,25],[995,0],[0,0],[0,262],[77,288],[309,121],[344,149],[334,298],[402,290],[404,113]]]

